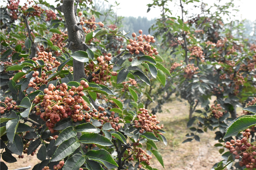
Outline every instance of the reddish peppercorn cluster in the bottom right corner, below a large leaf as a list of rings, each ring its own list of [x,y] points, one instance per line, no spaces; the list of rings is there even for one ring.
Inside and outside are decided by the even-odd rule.
[[[250,143],[248,140],[250,138],[250,129],[246,129],[243,132],[243,138],[241,140],[237,139],[226,142],[226,148],[230,150],[230,153],[235,155],[236,159],[242,158],[239,161],[240,166],[245,166],[246,168],[252,170],[256,168],[256,145]]]

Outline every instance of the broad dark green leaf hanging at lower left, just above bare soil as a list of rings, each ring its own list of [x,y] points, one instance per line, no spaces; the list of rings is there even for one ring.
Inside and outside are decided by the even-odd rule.
[[[21,155],[23,152],[23,142],[19,135],[14,136],[13,142],[10,142],[10,140],[7,143],[7,148],[12,151],[12,153],[16,155]]]

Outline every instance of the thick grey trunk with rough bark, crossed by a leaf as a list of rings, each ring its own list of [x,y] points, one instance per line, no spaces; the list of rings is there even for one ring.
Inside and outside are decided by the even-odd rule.
[[[66,26],[68,29],[68,48],[72,51],[72,53],[79,50],[86,50],[88,47],[84,44],[85,35],[84,31],[77,26],[77,20],[74,12],[74,0],[66,0],[63,1],[62,12],[64,13],[64,17],[66,20]],[[84,73],[84,63],[79,62],[73,59],[73,77],[74,81],[85,78]]]

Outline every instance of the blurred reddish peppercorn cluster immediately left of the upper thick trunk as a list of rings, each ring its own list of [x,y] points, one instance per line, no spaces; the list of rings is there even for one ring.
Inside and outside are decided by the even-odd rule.
[[[62,41],[64,41],[65,39],[68,38],[68,34],[67,33],[63,33],[62,31],[60,31],[60,32],[61,32],[61,34],[53,33],[52,34],[52,38],[50,40],[53,42],[54,45],[59,47],[60,50],[64,53],[65,50],[62,49],[62,48],[65,46],[65,42],[62,42]],[[56,56],[60,56],[61,55],[61,53],[59,53],[58,51],[55,51],[54,54]]]

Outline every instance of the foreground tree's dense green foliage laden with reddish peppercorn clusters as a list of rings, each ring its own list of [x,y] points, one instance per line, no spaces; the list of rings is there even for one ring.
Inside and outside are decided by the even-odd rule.
[[[34,155],[40,148],[36,156],[42,162],[35,170],[153,169],[152,155],[164,166],[155,144],[167,144],[163,125],[138,100],[144,86],[151,84],[149,77],[165,84],[168,70],[160,63],[160,55],[130,54],[122,49],[122,42],[126,47],[129,38],[117,28],[91,30],[84,35],[84,48],[71,52],[74,42],[67,39],[70,30],[65,32],[67,9],[59,7],[55,13],[43,1],[33,2],[31,8],[10,2],[17,3],[18,17],[10,19],[10,11],[1,7],[9,15],[1,18],[1,29],[8,28],[1,32],[2,159],[13,163],[17,160],[12,154],[23,158],[22,153]],[[78,7],[90,11],[85,2]],[[92,10],[91,14],[98,13]],[[85,30],[74,25],[72,31],[83,35]],[[106,46],[110,40],[120,46]],[[73,65],[77,61],[84,68]],[[79,69],[85,76],[75,79]],[[2,168],[7,169],[4,162]]]

